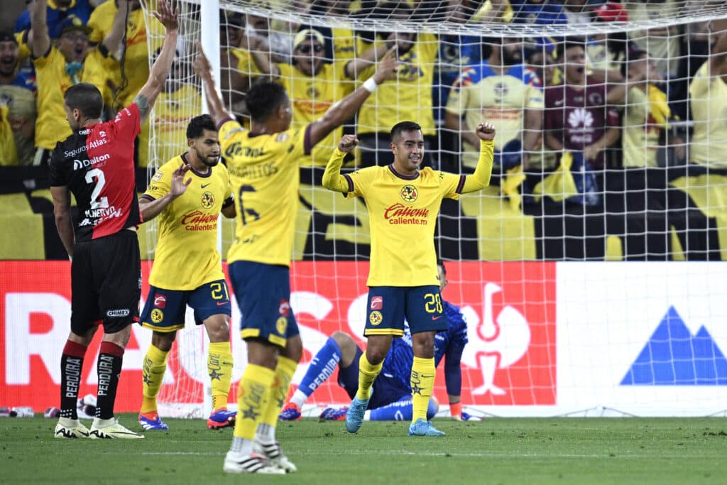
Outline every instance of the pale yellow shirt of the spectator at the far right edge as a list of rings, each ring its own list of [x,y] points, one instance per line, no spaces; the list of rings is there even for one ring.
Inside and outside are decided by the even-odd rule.
[[[712,168],[727,167],[727,84],[720,76],[710,76],[709,60],[696,71],[689,95],[694,121],[689,158]]]

